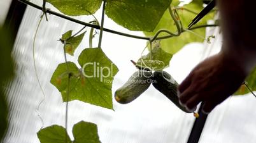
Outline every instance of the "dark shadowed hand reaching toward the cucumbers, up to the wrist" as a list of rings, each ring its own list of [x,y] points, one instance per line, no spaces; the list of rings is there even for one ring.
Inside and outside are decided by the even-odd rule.
[[[235,61],[220,52],[199,63],[178,87],[180,103],[194,111],[203,102],[203,112],[210,113],[245,80],[245,70]]]

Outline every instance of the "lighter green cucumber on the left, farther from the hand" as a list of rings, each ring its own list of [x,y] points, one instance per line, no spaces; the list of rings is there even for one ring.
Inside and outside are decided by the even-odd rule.
[[[132,74],[129,80],[115,92],[115,100],[121,104],[131,103],[148,87],[150,87],[152,72],[139,70]]]

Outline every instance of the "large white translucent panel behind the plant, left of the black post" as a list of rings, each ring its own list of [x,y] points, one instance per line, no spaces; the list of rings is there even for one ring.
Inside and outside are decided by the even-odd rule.
[[[48,4],[48,8],[50,7]],[[96,13],[100,19],[101,11]],[[42,124],[36,111],[40,101],[39,115],[43,119],[43,127],[50,125],[65,125],[65,106],[59,91],[50,84],[53,71],[59,63],[64,62],[62,44],[57,40],[68,30],[75,32],[82,28],[78,25],[53,15],[48,15],[39,27],[36,38],[35,59],[39,80],[46,97],[39,89],[33,66],[32,41],[41,11],[27,7],[20,30],[17,35],[13,56],[17,62],[17,77],[8,89],[10,103],[10,128],[4,142],[31,143],[39,142],[36,132]],[[90,22],[91,16],[76,17],[84,22]],[[130,32],[106,18],[105,26],[129,34],[143,35],[141,32]],[[87,31],[90,28],[86,28]],[[94,45],[97,45],[97,37]],[[88,35],[75,52],[68,56],[69,61],[77,63],[79,53],[89,47]],[[115,63],[119,72],[113,82],[113,92],[123,85],[136,71],[131,59],[137,60],[145,48],[146,41],[131,39],[120,35],[104,32],[102,48],[106,55]],[[209,50],[209,49],[208,49]],[[185,46],[175,54],[167,68],[171,75],[181,82],[188,72],[204,57],[208,51],[203,44],[195,43]],[[90,121],[98,125],[99,137],[103,143],[183,143],[187,142],[194,116],[176,108],[166,97],[152,86],[131,104],[121,105],[113,100],[115,111],[92,106],[80,101],[69,103],[68,133],[72,137],[71,128],[78,121]]]

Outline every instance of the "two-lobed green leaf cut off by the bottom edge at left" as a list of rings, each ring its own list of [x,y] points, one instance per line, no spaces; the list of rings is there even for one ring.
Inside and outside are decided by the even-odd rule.
[[[68,143],[100,143],[99,136],[97,135],[97,125],[85,121],[76,123],[73,127],[73,135],[75,140],[71,141],[66,128],[59,125],[52,125],[43,128],[38,132],[38,139],[41,143],[64,143],[66,137]]]

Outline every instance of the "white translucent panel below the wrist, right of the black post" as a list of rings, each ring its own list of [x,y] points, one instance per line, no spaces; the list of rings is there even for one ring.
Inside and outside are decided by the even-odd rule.
[[[208,116],[200,143],[256,142],[256,98],[232,96]]]

